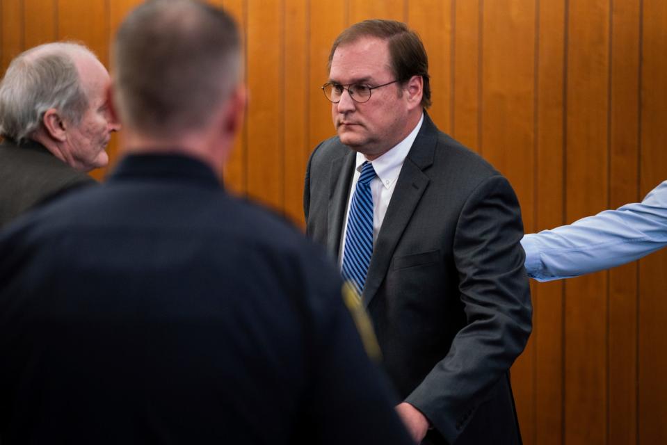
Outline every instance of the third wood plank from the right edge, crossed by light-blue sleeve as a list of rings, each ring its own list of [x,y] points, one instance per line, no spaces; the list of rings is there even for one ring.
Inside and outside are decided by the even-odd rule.
[[[609,162],[609,1],[570,1],[568,21],[568,222],[605,209]],[[606,442],[607,277],[565,284],[565,441]]]

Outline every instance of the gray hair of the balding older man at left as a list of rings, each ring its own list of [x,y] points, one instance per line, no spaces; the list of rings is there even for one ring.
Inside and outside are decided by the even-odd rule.
[[[78,125],[88,108],[74,56],[90,49],[73,42],[42,44],[19,54],[0,82],[0,136],[17,142],[40,128],[44,113],[56,108]]]

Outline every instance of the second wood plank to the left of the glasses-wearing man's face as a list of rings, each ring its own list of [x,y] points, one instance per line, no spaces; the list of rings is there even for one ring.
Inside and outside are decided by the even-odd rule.
[[[310,95],[317,94],[308,88],[308,12],[307,0],[285,0],[284,202],[287,216],[302,227],[303,180],[312,149],[308,145],[308,104]]]

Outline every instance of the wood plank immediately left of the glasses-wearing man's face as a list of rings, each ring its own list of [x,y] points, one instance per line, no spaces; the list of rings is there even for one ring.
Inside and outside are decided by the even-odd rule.
[[[331,119],[331,103],[320,87],[326,83],[329,72],[327,60],[331,44],[346,26],[345,3],[335,0],[310,2],[310,147],[335,135]]]

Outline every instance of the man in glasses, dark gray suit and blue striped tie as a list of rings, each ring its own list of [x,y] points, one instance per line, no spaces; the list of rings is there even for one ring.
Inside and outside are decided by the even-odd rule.
[[[305,181],[307,232],[362,294],[396,410],[424,444],[517,444],[508,371],[531,332],[519,204],[508,181],[437,130],[428,62],[405,24],[334,42],[338,136]]]

